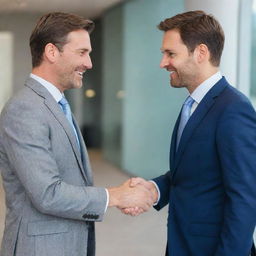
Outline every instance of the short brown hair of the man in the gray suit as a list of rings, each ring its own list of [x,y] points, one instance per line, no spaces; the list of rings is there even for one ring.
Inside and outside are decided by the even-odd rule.
[[[32,66],[37,67],[41,64],[44,49],[48,43],[52,43],[62,50],[67,43],[67,35],[79,29],[91,33],[94,23],[71,13],[51,12],[43,15],[30,36]]]

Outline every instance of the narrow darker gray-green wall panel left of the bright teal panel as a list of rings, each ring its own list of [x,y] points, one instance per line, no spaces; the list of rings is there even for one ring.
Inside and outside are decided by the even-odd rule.
[[[109,10],[102,19],[102,131],[104,157],[121,166],[123,88],[123,6]]]

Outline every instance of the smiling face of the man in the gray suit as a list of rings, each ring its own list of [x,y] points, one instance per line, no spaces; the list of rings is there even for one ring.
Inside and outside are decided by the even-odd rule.
[[[92,68],[91,50],[87,31],[76,30],[68,34],[67,43],[58,51],[55,62],[56,85],[61,91],[82,87],[84,72]]]

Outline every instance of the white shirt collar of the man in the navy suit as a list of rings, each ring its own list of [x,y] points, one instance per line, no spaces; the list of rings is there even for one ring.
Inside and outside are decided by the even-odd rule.
[[[201,102],[203,97],[207,94],[208,91],[222,78],[221,72],[218,71],[203,83],[201,83],[190,95],[197,104]]]

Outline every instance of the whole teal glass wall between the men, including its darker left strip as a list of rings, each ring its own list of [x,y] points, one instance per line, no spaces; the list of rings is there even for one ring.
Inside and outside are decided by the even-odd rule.
[[[104,155],[132,175],[150,178],[168,170],[186,92],[170,88],[169,74],[159,68],[162,32],[156,26],[183,8],[179,0],[134,0],[104,16]],[[119,103],[120,89],[125,97]]]

